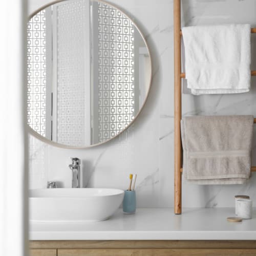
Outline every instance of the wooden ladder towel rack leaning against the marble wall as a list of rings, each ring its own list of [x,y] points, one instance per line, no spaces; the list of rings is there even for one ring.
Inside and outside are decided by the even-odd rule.
[[[256,33],[256,28],[251,29],[251,33]],[[181,214],[181,79],[185,78],[185,73],[181,72],[181,0],[174,0],[174,212]],[[252,76],[256,76],[256,71],[251,71]],[[254,118],[256,123],[256,118]],[[251,167],[251,172],[256,172],[256,166]]]

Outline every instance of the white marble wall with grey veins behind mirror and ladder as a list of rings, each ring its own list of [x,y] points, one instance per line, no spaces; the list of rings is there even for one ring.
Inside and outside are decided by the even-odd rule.
[[[30,0],[32,11],[47,0]],[[153,60],[153,82],[145,107],[117,139],[85,150],[65,150],[31,139],[30,187],[45,187],[47,180],[71,186],[69,157],[82,159],[84,185],[126,189],[129,174],[137,173],[139,207],[173,206],[173,1],[112,0],[129,14],[146,37]],[[250,23],[256,27],[256,1],[183,0],[182,23]],[[252,69],[256,70],[256,36],[252,36]],[[256,82],[240,95],[183,95],[183,115],[252,114],[256,116]],[[256,125],[255,125],[256,133]],[[254,133],[254,134],[255,134]],[[256,137],[256,136],[255,136]],[[31,142],[32,143],[32,142]],[[256,139],[253,165],[256,165]],[[183,207],[233,206],[233,196],[249,195],[256,205],[256,174],[247,185],[198,186],[183,184]]]

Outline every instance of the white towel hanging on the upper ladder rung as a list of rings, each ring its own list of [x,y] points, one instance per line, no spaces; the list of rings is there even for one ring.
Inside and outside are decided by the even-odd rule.
[[[250,89],[250,25],[182,29],[191,93],[245,93]]]

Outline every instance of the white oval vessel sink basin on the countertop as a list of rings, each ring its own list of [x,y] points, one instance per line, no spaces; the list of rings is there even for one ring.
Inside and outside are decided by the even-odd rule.
[[[103,221],[123,200],[112,188],[48,188],[29,190],[30,221]]]

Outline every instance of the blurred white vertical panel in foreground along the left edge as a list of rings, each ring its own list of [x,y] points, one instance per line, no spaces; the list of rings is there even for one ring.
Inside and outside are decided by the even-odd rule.
[[[25,22],[27,1],[0,8],[0,255],[28,255],[25,173]],[[27,169],[27,168],[26,168]]]

